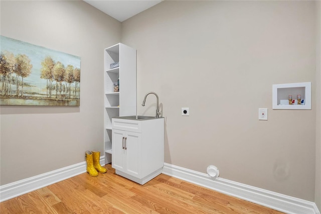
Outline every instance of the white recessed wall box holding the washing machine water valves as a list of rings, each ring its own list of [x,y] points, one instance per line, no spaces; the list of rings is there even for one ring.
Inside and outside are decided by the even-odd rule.
[[[297,94],[301,95],[301,99],[304,99],[304,103],[299,105],[281,104],[281,100],[288,100],[289,95],[292,95],[292,99],[297,99]],[[272,108],[286,110],[310,110],[311,82],[272,85]]]

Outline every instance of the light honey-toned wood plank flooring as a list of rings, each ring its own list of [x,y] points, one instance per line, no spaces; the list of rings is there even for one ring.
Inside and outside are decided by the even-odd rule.
[[[0,203],[0,213],[282,213],[164,174],[144,185],[84,173]]]

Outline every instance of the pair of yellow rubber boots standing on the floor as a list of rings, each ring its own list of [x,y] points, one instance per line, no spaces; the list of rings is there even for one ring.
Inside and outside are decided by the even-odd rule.
[[[86,151],[87,172],[90,176],[97,176],[98,172],[105,173],[107,169],[102,167],[99,163],[100,152]]]

